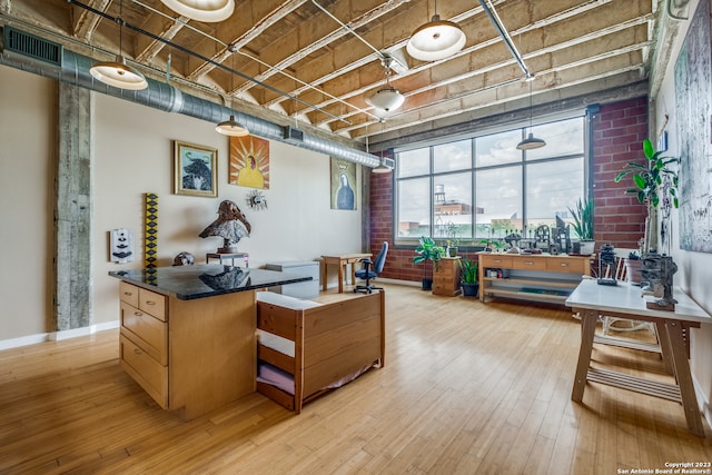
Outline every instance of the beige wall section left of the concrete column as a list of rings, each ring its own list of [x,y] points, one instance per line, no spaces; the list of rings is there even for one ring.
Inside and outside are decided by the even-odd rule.
[[[0,66],[0,340],[48,331],[57,85]]]

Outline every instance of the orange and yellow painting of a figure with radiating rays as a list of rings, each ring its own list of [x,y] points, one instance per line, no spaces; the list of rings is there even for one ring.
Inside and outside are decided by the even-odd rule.
[[[269,140],[230,137],[230,177],[240,187],[269,189]]]

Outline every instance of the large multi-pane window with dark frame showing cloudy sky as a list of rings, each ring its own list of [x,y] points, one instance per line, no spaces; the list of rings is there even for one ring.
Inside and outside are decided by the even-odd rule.
[[[546,147],[517,150],[530,129],[504,130],[396,155],[396,241],[455,237],[464,244],[570,221],[585,196],[584,118],[536,126]]]

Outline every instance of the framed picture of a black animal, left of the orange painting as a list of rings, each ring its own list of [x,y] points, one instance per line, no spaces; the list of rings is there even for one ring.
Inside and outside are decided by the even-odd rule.
[[[218,196],[218,150],[175,140],[175,194]]]

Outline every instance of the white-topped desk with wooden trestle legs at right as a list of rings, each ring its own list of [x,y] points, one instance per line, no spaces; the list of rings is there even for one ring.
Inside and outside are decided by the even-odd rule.
[[[682,403],[688,420],[688,429],[704,437],[700,407],[694,394],[692,375],[690,374],[688,338],[690,328],[700,327],[701,323],[712,323],[708,315],[686,294],[675,289],[678,300],[675,311],[651,310],[645,308],[641,288],[619,283],[617,286],[601,286],[594,279],[584,279],[566,299],[566,306],[581,315],[581,349],[576,364],[576,376],[571,398],[577,403],[583,400],[586,382],[616,386],[637,393],[647,394]],[[652,321],[657,327],[663,358],[672,368],[678,384],[652,382],[637,376],[591,366],[591,350],[599,316],[629,318]]]

